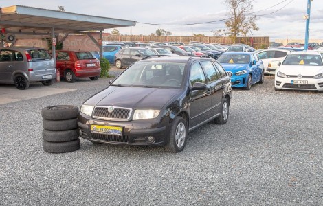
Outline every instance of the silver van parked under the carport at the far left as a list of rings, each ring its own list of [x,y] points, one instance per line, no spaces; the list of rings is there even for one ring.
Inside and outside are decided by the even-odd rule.
[[[35,47],[0,47],[0,84],[14,84],[27,89],[30,82],[52,85],[56,65],[45,50]]]

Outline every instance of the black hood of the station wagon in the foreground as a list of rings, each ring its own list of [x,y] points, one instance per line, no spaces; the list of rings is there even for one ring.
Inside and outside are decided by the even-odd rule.
[[[126,108],[161,109],[180,89],[110,86],[84,104],[92,106],[120,106]]]

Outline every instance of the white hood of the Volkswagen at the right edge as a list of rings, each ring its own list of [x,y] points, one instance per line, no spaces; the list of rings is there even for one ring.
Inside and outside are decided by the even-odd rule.
[[[278,71],[285,73],[286,75],[301,74],[302,76],[315,76],[319,73],[323,73],[323,66],[280,65]]]

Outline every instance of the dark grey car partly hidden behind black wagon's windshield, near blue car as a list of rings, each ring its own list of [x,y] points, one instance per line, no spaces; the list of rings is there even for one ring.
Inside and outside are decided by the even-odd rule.
[[[115,54],[115,67],[122,69],[122,67],[128,67],[137,60],[153,55],[156,55],[155,52],[142,47],[120,49],[120,51]]]

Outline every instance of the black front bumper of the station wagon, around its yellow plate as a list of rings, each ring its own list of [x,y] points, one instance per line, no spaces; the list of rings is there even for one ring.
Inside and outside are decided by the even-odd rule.
[[[90,141],[98,141],[109,144],[123,144],[133,146],[144,145],[164,145],[169,134],[168,126],[156,124],[152,119],[144,119],[129,122],[106,121],[92,119],[80,113],[78,116],[78,129],[80,137]],[[91,125],[120,126],[123,128],[122,136],[92,133]],[[152,128],[153,125],[158,125]],[[154,141],[148,141],[148,137],[153,137]]]

